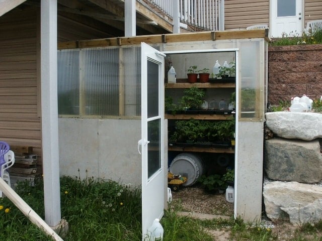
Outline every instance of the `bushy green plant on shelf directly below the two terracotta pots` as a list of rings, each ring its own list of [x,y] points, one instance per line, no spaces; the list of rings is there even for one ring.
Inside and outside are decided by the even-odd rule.
[[[181,98],[181,105],[185,109],[198,109],[203,103],[205,91],[196,86],[184,90],[184,95]]]

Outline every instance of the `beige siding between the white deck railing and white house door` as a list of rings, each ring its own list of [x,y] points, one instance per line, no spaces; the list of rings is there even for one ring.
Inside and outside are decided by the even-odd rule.
[[[269,25],[268,0],[225,1],[225,30],[246,28],[256,24]]]

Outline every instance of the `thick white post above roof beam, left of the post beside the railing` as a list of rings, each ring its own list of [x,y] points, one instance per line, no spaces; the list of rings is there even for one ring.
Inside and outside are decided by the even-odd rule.
[[[124,1],[125,7],[125,21],[124,21],[124,35],[125,37],[136,36],[136,0]]]

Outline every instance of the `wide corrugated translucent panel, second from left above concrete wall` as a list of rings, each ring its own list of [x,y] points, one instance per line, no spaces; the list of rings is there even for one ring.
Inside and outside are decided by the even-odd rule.
[[[81,115],[119,115],[119,49],[81,51]]]

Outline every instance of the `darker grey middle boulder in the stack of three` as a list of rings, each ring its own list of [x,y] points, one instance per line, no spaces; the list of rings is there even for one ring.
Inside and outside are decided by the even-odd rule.
[[[319,182],[322,179],[322,155],[318,140],[266,140],[264,169],[267,177],[273,180]]]

